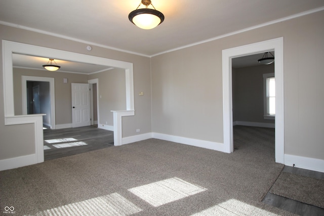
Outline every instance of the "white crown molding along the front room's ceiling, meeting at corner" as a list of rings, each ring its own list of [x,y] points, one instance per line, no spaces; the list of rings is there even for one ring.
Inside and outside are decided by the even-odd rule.
[[[279,23],[279,22],[282,22],[282,21],[295,19],[295,18],[298,18],[298,17],[302,17],[302,16],[305,16],[305,15],[316,13],[316,12],[323,11],[323,10],[324,10],[324,7],[315,8],[315,9],[312,9],[312,10],[304,11],[302,13],[298,13],[298,14],[291,15],[291,16],[288,16],[288,17],[284,17],[284,18],[280,18],[280,19],[273,20],[273,21],[270,21],[270,22],[266,22],[266,23],[263,23],[263,24],[260,24],[260,25],[252,26],[252,27],[241,29],[241,30],[238,30],[238,31],[233,31],[233,32],[228,33],[228,34],[223,34],[223,35],[213,37],[213,38],[210,38],[210,39],[207,39],[207,40],[202,40],[202,41],[199,41],[199,42],[195,42],[193,44],[189,44],[189,45],[186,45],[186,46],[171,49],[171,50],[168,50],[168,51],[165,51],[165,52],[160,52],[160,53],[157,53],[157,54],[154,54],[154,55],[144,55],[144,54],[141,54],[141,53],[136,53],[136,52],[132,52],[132,51],[128,51],[128,50],[122,50],[122,49],[118,49],[118,48],[114,48],[114,47],[109,47],[109,46],[105,46],[105,45],[101,45],[101,44],[96,44],[94,42],[90,42],[90,41],[86,41],[86,40],[82,40],[82,39],[77,39],[77,38],[74,38],[74,37],[65,36],[65,35],[62,35],[62,34],[57,34],[57,33],[44,31],[44,30],[40,30],[40,29],[36,29],[36,28],[30,28],[30,27],[26,27],[26,26],[22,26],[22,25],[17,25],[17,24],[14,24],[14,23],[0,21],[0,24],[15,27],[15,28],[20,28],[20,29],[24,29],[24,30],[34,31],[34,32],[42,33],[42,34],[47,34],[47,35],[51,35],[51,36],[55,36],[55,37],[60,37],[60,38],[63,38],[63,39],[68,39],[68,40],[72,40],[72,41],[76,41],[76,42],[81,42],[83,44],[97,46],[97,47],[101,47],[101,48],[105,48],[105,49],[110,49],[110,50],[115,50],[115,51],[119,51],[119,52],[124,52],[124,53],[129,53],[129,54],[134,54],[134,55],[138,55],[138,56],[144,56],[144,57],[151,58],[151,57],[158,56],[158,55],[161,55],[161,54],[170,53],[170,52],[173,52],[173,51],[177,51],[177,50],[181,50],[181,49],[184,49],[184,48],[196,46],[196,45],[199,45],[199,44],[204,44],[204,43],[209,42],[209,41],[217,40],[217,39],[224,38],[224,37],[227,37],[227,36],[231,36],[231,35],[234,35],[234,34],[239,34],[239,33],[246,32],[246,31],[249,31],[249,30],[253,30],[253,29],[256,29],[256,28],[261,28],[261,27],[264,27],[264,26],[267,26],[267,25],[272,25],[272,24]]]

